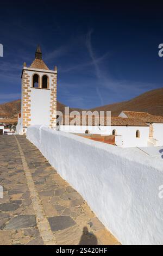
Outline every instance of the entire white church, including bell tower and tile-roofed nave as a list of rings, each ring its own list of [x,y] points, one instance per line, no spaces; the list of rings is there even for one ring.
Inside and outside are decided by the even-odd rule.
[[[89,123],[78,124],[74,113],[57,114],[57,67],[49,70],[42,60],[40,46],[37,46],[35,59],[22,70],[22,105],[18,116],[16,132],[25,134],[31,125],[45,125],[51,129],[76,133],[89,139],[95,139],[119,147],[154,147],[163,145],[163,117],[145,112],[122,111],[118,117],[111,117],[110,123],[104,118],[104,123],[96,122],[96,118]],[[80,113],[79,113],[80,114]],[[57,117],[59,118],[57,119]],[[105,115],[104,115],[105,116]],[[71,118],[70,118],[71,117]]]

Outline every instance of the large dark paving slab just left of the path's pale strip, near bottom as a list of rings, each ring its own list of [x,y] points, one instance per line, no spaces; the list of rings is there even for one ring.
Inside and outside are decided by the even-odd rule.
[[[5,225],[4,229],[7,229],[7,230],[21,229],[21,228],[35,227],[35,225],[36,225],[35,215],[19,215],[15,218],[12,218],[12,220],[10,220],[7,225]]]

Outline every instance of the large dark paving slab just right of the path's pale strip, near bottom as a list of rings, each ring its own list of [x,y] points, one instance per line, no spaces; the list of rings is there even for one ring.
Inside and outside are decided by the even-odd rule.
[[[72,227],[76,224],[70,216],[56,216],[48,218],[52,231]]]

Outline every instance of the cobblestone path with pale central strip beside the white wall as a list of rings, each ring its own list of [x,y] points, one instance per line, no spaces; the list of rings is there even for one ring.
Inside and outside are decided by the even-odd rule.
[[[25,136],[0,136],[0,245],[119,245]]]

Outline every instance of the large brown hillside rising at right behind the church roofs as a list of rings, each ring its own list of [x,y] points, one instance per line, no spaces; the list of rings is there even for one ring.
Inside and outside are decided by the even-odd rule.
[[[123,101],[102,107],[90,109],[91,111],[111,111],[117,116],[121,111],[140,111],[163,116],[163,88],[151,90],[129,101]]]

